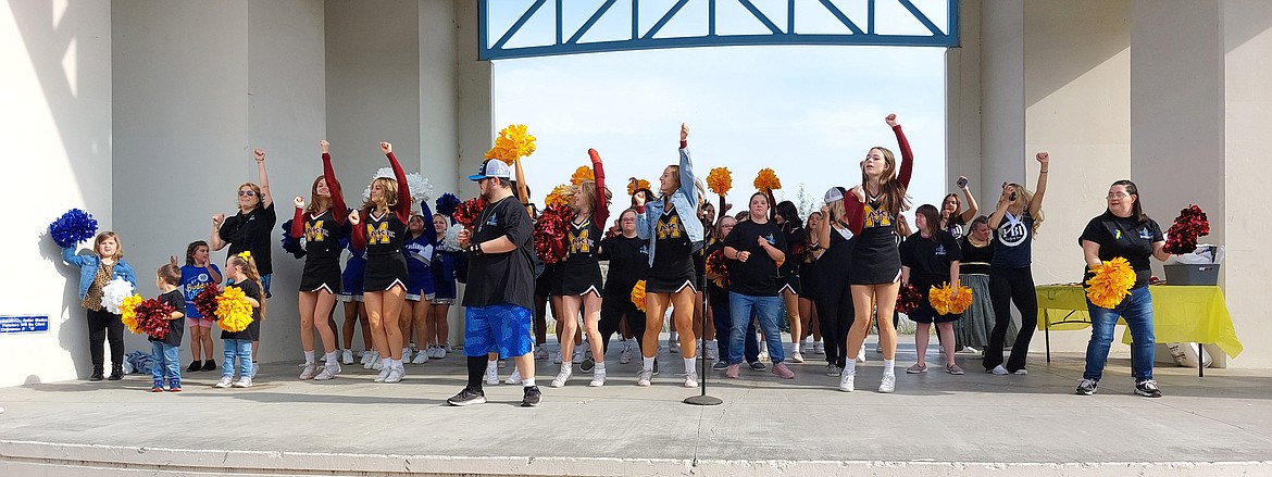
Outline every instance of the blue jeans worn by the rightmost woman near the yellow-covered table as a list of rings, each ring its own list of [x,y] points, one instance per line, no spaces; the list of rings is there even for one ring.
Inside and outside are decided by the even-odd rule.
[[[1131,294],[1117,308],[1100,308],[1088,300],[1086,309],[1091,314],[1091,341],[1086,343],[1086,370],[1082,378],[1100,380],[1104,375],[1113,329],[1121,315],[1131,328],[1131,375],[1136,382],[1152,379],[1156,340],[1152,335],[1152,295],[1149,294],[1149,286],[1131,289]]]

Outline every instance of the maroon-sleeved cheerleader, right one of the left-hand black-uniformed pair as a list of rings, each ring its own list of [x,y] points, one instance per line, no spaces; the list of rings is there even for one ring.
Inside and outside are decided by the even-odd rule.
[[[349,219],[354,224],[355,247],[365,244],[366,248],[363,299],[371,322],[371,342],[383,360],[375,382],[397,383],[406,375],[402,366],[404,340],[398,315],[406,300],[407,271],[402,245],[411,220],[411,191],[406,172],[393,155],[393,145],[380,142],[380,150],[389,158],[396,179],[379,177],[371,181],[370,201],[361,212],[355,211]]]

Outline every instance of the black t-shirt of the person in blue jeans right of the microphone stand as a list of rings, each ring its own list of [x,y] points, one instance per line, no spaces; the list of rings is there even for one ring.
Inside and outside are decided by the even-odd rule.
[[[730,291],[750,296],[777,295],[777,262],[759,247],[757,239],[761,237],[778,251],[786,252],[786,234],[771,221],[756,224],[743,220],[734,225],[729,237],[725,237],[725,247],[733,247],[738,252],[750,252],[745,262],[729,261]]]

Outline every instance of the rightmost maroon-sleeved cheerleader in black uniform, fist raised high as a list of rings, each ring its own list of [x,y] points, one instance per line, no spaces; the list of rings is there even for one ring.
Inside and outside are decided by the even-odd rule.
[[[871,313],[879,319],[879,342],[883,351],[883,379],[880,393],[897,389],[897,328],[887,317],[897,307],[901,291],[901,253],[898,252],[897,218],[909,209],[906,188],[915,167],[909,142],[897,123],[897,114],[888,114],[888,126],[897,135],[901,149],[901,167],[892,151],[883,146],[871,148],[861,163],[861,188],[865,193],[864,228],[852,247],[848,282],[852,284],[855,318],[848,331],[848,356],[856,356],[870,332]],[[878,307],[878,309],[875,309]],[[824,319],[824,317],[823,317]],[[887,324],[887,326],[884,326]],[[840,391],[851,392],[856,378],[856,361],[847,360],[840,378]]]

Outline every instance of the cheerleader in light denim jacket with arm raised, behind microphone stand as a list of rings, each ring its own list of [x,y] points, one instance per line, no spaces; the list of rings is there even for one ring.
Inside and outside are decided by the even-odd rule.
[[[647,387],[654,377],[654,355],[663,331],[663,314],[672,305],[673,329],[693,329],[693,252],[702,247],[702,223],[691,216],[697,210],[698,193],[693,163],[688,149],[689,127],[681,125],[681,163],[668,165],[659,177],[661,196],[651,200],[647,192],[636,195],[636,234],[649,240],[649,279],[645,282],[645,336],[641,346],[640,378],[636,385]],[[683,214],[683,216],[682,216]],[[693,369],[693,336],[681,335],[681,357],[684,359],[684,387],[696,388],[698,374]]]

